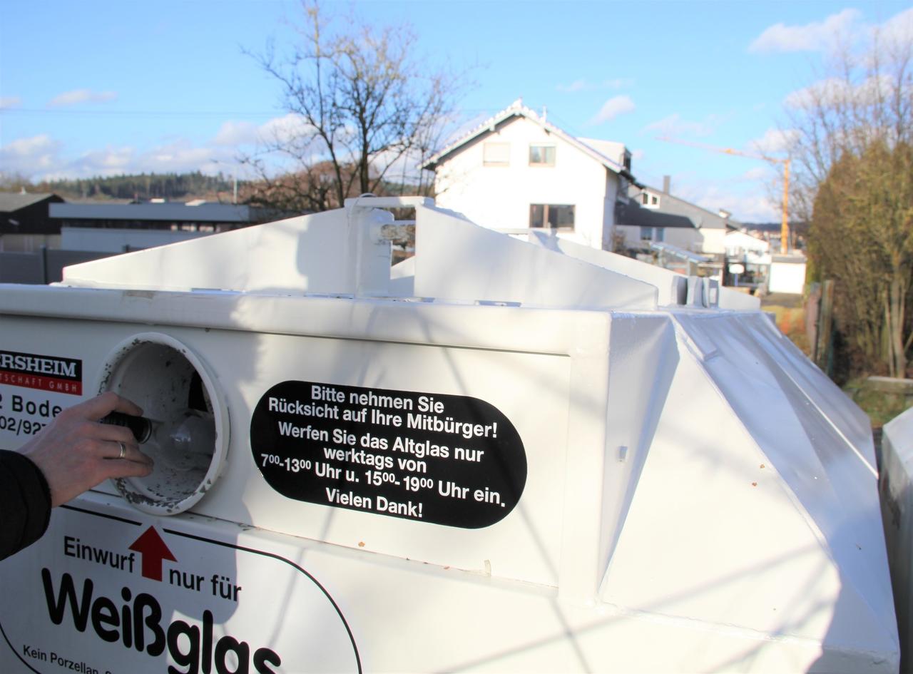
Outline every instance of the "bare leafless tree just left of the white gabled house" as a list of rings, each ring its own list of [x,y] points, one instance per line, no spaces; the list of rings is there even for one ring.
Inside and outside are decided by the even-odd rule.
[[[298,42],[250,54],[278,82],[289,113],[256,153],[241,157],[259,177],[252,201],[325,210],[348,196],[389,192],[394,177],[426,193],[425,176],[407,167],[436,149],[462,76],[427,68],[409,26],[377,28],[350,16],[333,31],[316,3],[302,9]],[[271,168],[277,158],[284,171]]]

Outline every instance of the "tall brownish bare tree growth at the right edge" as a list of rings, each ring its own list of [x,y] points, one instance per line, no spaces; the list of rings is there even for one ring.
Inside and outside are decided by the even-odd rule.
[[[905,376],[913,342],[913,43],[876,35],[790,100],[793,203],[813,275],[866,369]]]

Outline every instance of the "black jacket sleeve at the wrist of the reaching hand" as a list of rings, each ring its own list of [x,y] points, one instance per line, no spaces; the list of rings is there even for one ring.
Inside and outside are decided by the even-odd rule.
[[[50,517],[44,474],[31,459],[0,449],[0,559],[41,538]]]

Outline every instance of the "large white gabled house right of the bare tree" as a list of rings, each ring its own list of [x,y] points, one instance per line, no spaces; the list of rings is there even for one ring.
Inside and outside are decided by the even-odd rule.
[[[422,166],[436,203],[513,234],[550,229],[612,249],[615,202],[627,201],[631,153],[620,142],[576,138],[515,100]]]

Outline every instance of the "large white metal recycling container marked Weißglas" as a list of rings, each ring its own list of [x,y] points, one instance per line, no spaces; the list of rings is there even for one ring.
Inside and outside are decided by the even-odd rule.
[[[0,444],[108,388],[215,429],[0,563],[2,671],[897,671],[866,416],[705,279],[365,197],[0,316],[56,368]]]

